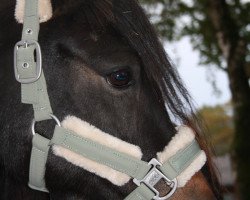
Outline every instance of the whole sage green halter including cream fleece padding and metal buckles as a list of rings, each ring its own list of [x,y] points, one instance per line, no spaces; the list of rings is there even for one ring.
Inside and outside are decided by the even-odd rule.
[[[47,9],[47,10],[46,10]],[[50,12],[51,11],[51,12]],[[82,167],[111,183],[122,186],[130,178],[138,186],[125,200],[164,200],[177,187],[183,187],[206,162],[206,155],[195,140],[192,129],[181,126],[177,134],[157,159],[141,160],[138,146],[129,144],[91,126],[73,116],[62,126],[50,105],[46,80],[42,70],[42,53],[37,42],[40,22],[52,16],[49,0],[18,0],[16,17],[22,22],[22,40],[15,46],[15,77],[21,83],[22,103],[32,104],[32,151],[28,185],[38,191],[49,192],[44,174],[49,148],[68,162]],[[34,56],[36,52],[36,57]],[[51,140],[35,133],[35,122],[54,119],[57,123]],[[161,196],[155,186],[163,180],[169,188]]]

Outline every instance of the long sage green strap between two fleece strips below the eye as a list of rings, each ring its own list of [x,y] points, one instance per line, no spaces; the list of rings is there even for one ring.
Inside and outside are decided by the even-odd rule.
[[[142,179],[150,166],[133,156],[80,137],[72,131],[56,126],[51,145],[65,147],[97,163],[106,165],[133,178]]]

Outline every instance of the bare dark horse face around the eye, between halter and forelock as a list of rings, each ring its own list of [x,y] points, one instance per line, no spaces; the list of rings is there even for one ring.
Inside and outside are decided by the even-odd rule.
[[[175,132],[163,104],[128,42],[112,27],[92,31],[80,11],[41,27],[54,112],[84,119],[152,156]]]

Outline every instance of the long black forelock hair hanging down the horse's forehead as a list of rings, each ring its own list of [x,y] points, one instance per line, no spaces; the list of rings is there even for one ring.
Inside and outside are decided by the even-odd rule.
[[[115,29],[138,54],[166,110],[180,123],[192,124],[195,112],[191,97],[136,0],[61,0],[55,1],[54,6],[57,8],[55,17],[58,13],[67,14],[81,8],[89,27],[96,34],[107,28]]]

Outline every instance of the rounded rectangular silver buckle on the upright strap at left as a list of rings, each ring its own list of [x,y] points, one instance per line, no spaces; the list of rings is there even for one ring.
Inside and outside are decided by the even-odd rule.
[[[30,66],[30,64],[28,62],[25,62],[25,60],[24,60],[22,67],[17,66],[18,63],[20,62],[20,60],[18,60],[18,59],[20,59],[19,58],[20,56],[18,56],[18,54],[23,53],[23,52],[19,52],[19,49],[22,47],[23,49],[28,50],[28,48],[30,46],[35,46],[36,57],[34,57],[34,51],[23,54],[23,56],[27,57],[27,55],[31,54],[31,55],[29,55],[29,59],[33,58],[34,61],[36,60],[36,62],[35,62],[35,64],[36,64],[35,74],[29,75],[29,76],[25,75],[26,77],[23,78],[20,76],[21,75],[20,71],[23,72],[22,75],[26,74],[27,68]],[[23,58],[21,58],[21,59],[23,59]],[[37,41],[29,40],[29,41],[19,41],[16,43],[15,49],[14,49],[14,71],[15,71],[16,80],[19,83],[26,83],[26,84],[33,83],[40,78],[41,72],[42,72],[42,54],[41,54],[40,45]]]

